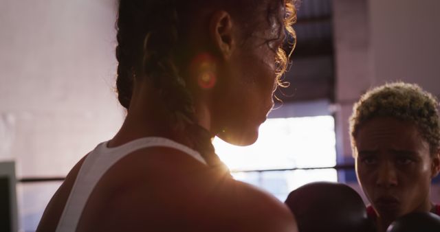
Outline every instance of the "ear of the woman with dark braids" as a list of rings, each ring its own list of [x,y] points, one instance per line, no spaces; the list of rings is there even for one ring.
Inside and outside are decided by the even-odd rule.
[[[209,25],[210,36],[214,46],[225,59],[230,58],[235,46],[232,29],[233,23],[228,12],[221,10],[212,14]]]

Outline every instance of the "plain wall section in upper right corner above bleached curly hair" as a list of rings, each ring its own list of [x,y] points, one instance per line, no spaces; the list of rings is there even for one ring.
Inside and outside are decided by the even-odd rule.
[[[373,84],[417,82],[440,95],[440,1],[370,0]]]

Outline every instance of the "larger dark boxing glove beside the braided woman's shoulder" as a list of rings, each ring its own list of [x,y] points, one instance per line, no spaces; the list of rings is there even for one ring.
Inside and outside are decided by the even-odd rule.
[[[285,204],[294,213],[300,232],[374,231],[362,198],[348,185],[309,183],[291,192]]]

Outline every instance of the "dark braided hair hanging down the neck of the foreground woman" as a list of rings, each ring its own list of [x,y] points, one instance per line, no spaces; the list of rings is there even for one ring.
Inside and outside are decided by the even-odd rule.
[[[197,150],[211,167],[227,170],[214,152],[211,135],[197,123],[192,96],[179,73],[179,51],[185,17],[195,8],[206,4],[236,4],[256,0],[208,1],[190,0],[120,0],[116,58],[118,100],[129,108],[135,78],[149,78],[170,114],[170,125],[189,137],[190,146]],[[261,0],[259,0],[261,1]],[[283,1],[283,0],[278,0]],[[292,5],[292,4],[289,4]],[[184,10],[182,10],[185,8]],[[289,8],[292,9],[292,8]],[[296,15],[296,14],[295,14]],[[290,28],[290,27],[289,27]],[[288,31],[289,31],[289,28]]]

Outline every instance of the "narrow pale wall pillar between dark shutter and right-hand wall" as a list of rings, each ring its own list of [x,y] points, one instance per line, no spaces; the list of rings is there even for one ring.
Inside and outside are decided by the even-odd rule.
[[[340,161],[351,157],[348,118],[372,82],[367,0],[333,0],[336,51],[336,137]]]

